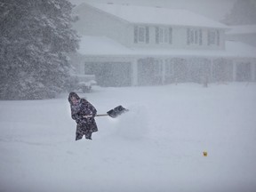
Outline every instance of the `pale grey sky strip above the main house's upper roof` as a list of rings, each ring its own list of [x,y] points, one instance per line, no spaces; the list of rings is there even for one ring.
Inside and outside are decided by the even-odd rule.
[[[72,4],[84,2],[136,4],[171,7],[173,9],[186,9],[200,13],[214,20],[221,20],[232,8],[236,0],[69,0]]]

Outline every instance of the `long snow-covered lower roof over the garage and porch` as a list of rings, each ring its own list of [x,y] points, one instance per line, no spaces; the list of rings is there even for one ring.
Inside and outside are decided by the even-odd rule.
[[[256,48],[240,42],[226,42],[226,50],[129,48],[106,36],[83,36],[79,53],[87,56],[205,56],[256,58]]]

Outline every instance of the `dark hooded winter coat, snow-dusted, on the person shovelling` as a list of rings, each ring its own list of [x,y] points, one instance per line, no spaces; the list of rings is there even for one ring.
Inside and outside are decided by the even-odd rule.
[[[73,104],[71,97],[76,97],[77,104]],[[81,140],[85,135],[86,139],[92,140],[92,132],[97,132],[98,127],[94,116],[97,114],[96,108],[85,99],[80,99],[76,92],[70,92],[68,101],[71,108],[71,117],[76,120],[76,140]],[[85,118],[84,116],[92,116]]]

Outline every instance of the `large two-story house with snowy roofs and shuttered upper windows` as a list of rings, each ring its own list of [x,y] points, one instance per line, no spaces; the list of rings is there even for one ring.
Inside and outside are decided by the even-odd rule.
[[[101,86],[256,81],[256,49],[225,41],[228,26],[185,10],[81,4],[72,62]]]

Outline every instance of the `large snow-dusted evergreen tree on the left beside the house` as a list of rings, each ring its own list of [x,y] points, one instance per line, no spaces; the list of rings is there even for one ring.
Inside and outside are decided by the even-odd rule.
[[[0,99],[53,98],[65,89],[78,36],[67,0],[0,0]]]

